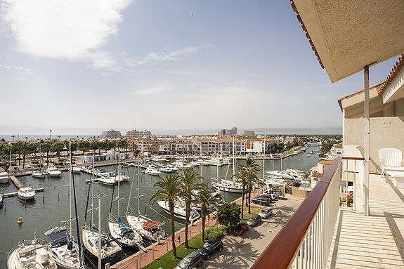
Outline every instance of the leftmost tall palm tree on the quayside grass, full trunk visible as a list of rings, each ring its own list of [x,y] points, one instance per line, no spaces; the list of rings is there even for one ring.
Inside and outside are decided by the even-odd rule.
[[[171,217],[171,242],[173,244],[173,256],[177,258],[176,244],[174,242],[175,238],[175,227],[174,227],[174,206],[175,200],[179,196],[181,191],[181,181],[180,176],[177,174],[166,175],[164,178],[160,177],[161,181],[155,183],[153,188],[158,187],[159,190],[150,197],[149,201],[152,201],[152,204],[157,202],[159,199],[163,199],[164,202],[168,203]]]

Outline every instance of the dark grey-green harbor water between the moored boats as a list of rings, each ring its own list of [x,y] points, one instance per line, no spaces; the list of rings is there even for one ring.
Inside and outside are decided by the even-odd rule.
[[[308,152],[312,150],[313,154],[308,157]],[[300,153],[297,156],[290,156],[282,159],[282,169],[299,169],[301,171],[307,171],[311,167],[315,166],[318,162],[318,147],[311,147],[306,152]],[[239,161],[240,162],[240,161]],[[262,160],[256,160],[258,164],[262,166]],[[103,167],[106,171],[117,171],[117,166],[105,166]],[[280,170],[281,161],[276,160],[266,160],[265,170]],[[144,169],[142,169],[144,170]],[[199,169],[200,170],[200,169]],[[131,195],[131,201],[129,203],[129,210],[135,212],[138,207],[138,200],[136,197],[136,169],[133,166],[121,169],[121,172],[126,173],[133,178],[135,182],[133,184],[133,190]],[[203,166],[202,176],[204,176],[204,182],[209,183],[211,178],[216,178],[217,169],[216,166]],[[219,178],[227,178],[233,174],[233,166],[220,166],[219,167]],[[162,173],[164,176],[164,173]],[[261,176],[260,176],[261,177]],[[86,184],[86,180],[91,178],[87,173],[74,173],[74,181],[76,183],[76,193],[77,193],[77,206],[79,214],[79,227],[84,225],[84,213],[86,208],[87,191],[89,190],[89,184]],[[4,207],[0,209],[0,268],[6,268],[8,251],[11,250],[13,246],[18,244],[18,242],[23,242],[23,240],[33,240],[36,237],[47,240],[44,232],[47,230],[65,225],[69,218],[69,172],[63,171],[61,178],[32,178],[32,176],[22,176],[18,178],[20,182],[26,187],[32,188],[44,188],[44,192],[37,192],[34,200],[29,202],[22,202],[17,197],[7,197],[4,198]],[[120,188],[120,197],[124,198],[120,200],[120,216],[124,223],[126,223],[125,212],[126,206],[128,204],[129,192],[131,190],[130,183],[122,183]],[[155,193],[156,189],[153,185],[159,181],[157,176],[150,176],[141,174],[140,180],[140,210],[142,214],[147,214],[150,218],[165,221],[163,226],[164,230],[170,234],[170,222],[169,215],[165,214],[164,211],[159,208],[156,204],[149,202],[150,197]],[[1,184],[1,193],[16,192],[17,188],[13,183]],[[105,186],[95,183],[94,190],[95,194],[103,193],[106,195],[101,200],[101,225],[102,229],[108,231],[107,219],[110,209],[112,214],[117,215],[117,202],[112,200],[112,191],[114,192],[114,199],[117,197],[117,185],[115,186]],[[240,194],[222,192],[223,198],[226,202],[232,202],[233,200],[240,197]],[[96,202],[96,204],[98,204]],[[151,208],[150,208],[150,207]],[[91,208],[91,198],[89,202],[89,208]],[[72,209],[74,212],[74,208]],[[95,211],[96,216],[91,216],[89,213],[87,215],[87,224],[89,220],[93,218],[94,223],[98,223],[98,212]],[[18,224],[18,218],[22,217],[22,224]],[[183,228],[184,221],[176,219],[176,230]],[[75,232],[75,223],[73,224],[73,236],[77,238]],[[80,234],[81,236],[81,234]],[[130,255],[131,252],[128,249],[124,249],[126,255]],[[91,267],[91,264],[88,264]]]

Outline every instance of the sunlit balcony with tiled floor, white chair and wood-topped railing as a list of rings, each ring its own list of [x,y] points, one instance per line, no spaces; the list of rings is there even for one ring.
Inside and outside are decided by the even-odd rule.
[[[404,268],[404,190],[371,174],[365,216],[362,169],[363,158],[337,158],[251,268]],[[340,202],[348,181],[352,206]]]

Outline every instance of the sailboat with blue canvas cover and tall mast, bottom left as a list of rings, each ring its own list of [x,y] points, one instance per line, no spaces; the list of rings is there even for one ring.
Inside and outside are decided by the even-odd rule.
[[[72,185],[73,185],[73,176],[72,176],[72,151],[71,151],[71,143],[70,147],[70,166],[69,166],[69,223],[70,223],[70,231],[67,230],[66,227],[55,227],[51,228],[45,232],[45,235],[49,237],[51,240],[50,243],[46,244],[46,249],[49,254],[53,256],[58,265],[58,268],[63,269],[75,269],[75,268],[83,268],[82,265],[82,256],[81,249],[77,242],[75,242],[72,237]],[[75,193],[74,193],[75,197]],[[77,216],[76,216],[77,220]],[[67,224],[67,223],[66,223]],[[79,237],[79,232],[77,232],[77,236]]]

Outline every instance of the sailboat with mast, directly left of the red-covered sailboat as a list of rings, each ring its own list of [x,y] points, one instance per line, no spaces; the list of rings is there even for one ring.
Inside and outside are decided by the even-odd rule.
[[[118,153],[119,154],[119,153]],[[118,175],[120,172],[120,166],[119,166],[119,159],[118,159]],[[142,237],[138,232],[135,232],[132,228],[126,227],[122,221],[121,217],[119,215],[119,200],[121,197],[119,197],[119,187],[120,187],[120,181],[118,181],[118,196],[117,196],[117,218],[113,218],[111,212],[110,212],[110,217],[108,218],[108,227],[110,228],[110,233],[111,236],[115,239],[117,239],[117,242],[122,244],[124,247],[133,247],[133,248],[138,248],[142,243]],[[113,195],[113,192],[112,192]]]

